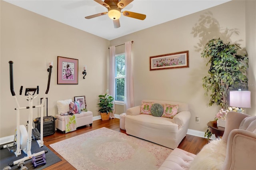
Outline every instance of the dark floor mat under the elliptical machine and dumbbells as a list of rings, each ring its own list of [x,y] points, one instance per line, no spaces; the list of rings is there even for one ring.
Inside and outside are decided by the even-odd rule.
[[[37,168],[34,168],[33,164],[32,164],[32,160],[26,160],[25,161],[25,166],[28,169],[34,169],[34,170],[42,170],[48,166],[51,166],[53,164],[56,164],[57,162],[60,162],[61,159],[54,154],[49,148],[47,148],[45,145],[43,147],[39,147],[36,140],[32,140],[31,142],[31,153],[37,153],[40,152],[42,150],[47,151],[47,153],[45,154],[46,157],[46,164],[45,165],[41,165],[38,166]],[[8,164],[13,163],[13,161],[24,158],[26,156],[26,154],[24,154],[24,152],[22,152],[21,155],[19,155],[18,157],[16,157],[16,155],[14,153],[11,153],[8,148],[2,149],[0,150],[0,169],[2,170],[4,167],[8,166]],[[12,166],[12,170],[19,170],[20,168],[17,167],[17,165]]]

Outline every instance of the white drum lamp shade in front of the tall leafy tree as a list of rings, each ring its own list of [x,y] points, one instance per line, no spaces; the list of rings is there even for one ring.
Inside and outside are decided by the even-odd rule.
[[[239,108],[251,107],[250,91],[230,91],[230,106]]]

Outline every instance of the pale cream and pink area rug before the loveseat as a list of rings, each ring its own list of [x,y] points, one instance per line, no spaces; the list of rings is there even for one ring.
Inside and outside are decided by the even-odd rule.
[[[77,170],[154,170],[172,152],[105,127],[50,146]]]

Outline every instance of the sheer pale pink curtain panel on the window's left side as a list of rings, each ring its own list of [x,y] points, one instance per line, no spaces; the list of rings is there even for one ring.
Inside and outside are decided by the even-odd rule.
[[[109,94],[115,98],[115,51],[116,47],[111,46],[110,49],[110,59],[109,59]],[[115,104],[114,111],[110,113],[110,119],[115,118]]]

